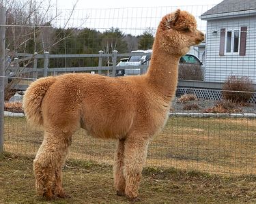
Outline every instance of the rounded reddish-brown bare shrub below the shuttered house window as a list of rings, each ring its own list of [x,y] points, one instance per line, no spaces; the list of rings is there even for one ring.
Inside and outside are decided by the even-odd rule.
[[[223,85],[223,99],[236,103],[246,103],[253,96],[253,92],[253,82],[246,76],[231,75]]]

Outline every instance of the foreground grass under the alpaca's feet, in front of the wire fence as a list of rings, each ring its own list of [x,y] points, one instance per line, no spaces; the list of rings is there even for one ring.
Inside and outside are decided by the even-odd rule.
[[[70,199],[46,201],[34,188],[33,158],[0,157],[0,203],[129,203],[115,195],[111,165],[69,159],[63,186]],[[143,169],[137,203],[256,203],[256,176],[224,176],[173,168]]]

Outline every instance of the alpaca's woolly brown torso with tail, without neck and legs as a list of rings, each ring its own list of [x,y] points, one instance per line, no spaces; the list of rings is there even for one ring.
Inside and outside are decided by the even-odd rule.
[[[24,109],[34,124],[63,131],[81,126],[96,137],[116,138],[124,137],[134,122],[143,126],[141,114],[150,111],[148,95],[141,77],[65,74],[31,84]]]

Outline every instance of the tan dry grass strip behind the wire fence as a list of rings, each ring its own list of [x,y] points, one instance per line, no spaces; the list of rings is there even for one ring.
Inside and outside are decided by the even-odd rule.
[[[4,150],[35,156],[42,131],[27,125],[25,118],[5,117],[4,122]],[[171,117],[150,143],[146,165],[226,175],[256,174],[255,122],[248,118]],[[115,141],[89,137],[81,129],[73,136],[68,157],[112,165],[113,152]]]

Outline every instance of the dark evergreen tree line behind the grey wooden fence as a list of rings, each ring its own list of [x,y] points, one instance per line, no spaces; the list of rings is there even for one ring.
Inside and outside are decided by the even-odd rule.
[[[40,29],[40,28],[38,28]],[[34,35],[32,32],[31,35]],[[42,54],[44,51],[51,54],[96,54],[103,50],[104,53],[112,53],[118,50],[119,53],[127,53],[132,50],[152,49],[154,41],[153,33],[150,29],[143,32],[142,35],[126,35],[118,28],[110,28],[104,32],[96,29],[56,29],[53,27],[43,27],[36,37],[29,37],[25,44],[15,48],[9,44],[9,49],[16,52]],[[11,41],[12,35],[7,36]],[[53,40],[56,43],[51,42]],[[107,59],[105,61],[105,65]],[[98,58],[70,58],[68,61],[59,58],[50,61],[50,67],[93,67],[98,65]]]

